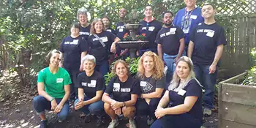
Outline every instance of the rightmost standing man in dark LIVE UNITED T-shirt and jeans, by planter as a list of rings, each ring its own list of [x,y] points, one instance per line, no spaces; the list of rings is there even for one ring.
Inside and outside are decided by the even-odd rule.
[[[223,46],[227,44],[225,30],[216,23],[215,13],[212,4],[203,5],[204,22],[193,29],[188,48],[188,56],[194,63],[196,78],[206,89],[203,94],[205,116],[211,116],[211,109],[214,108],[214,86],[219,70],[219,59],[222,56]]]

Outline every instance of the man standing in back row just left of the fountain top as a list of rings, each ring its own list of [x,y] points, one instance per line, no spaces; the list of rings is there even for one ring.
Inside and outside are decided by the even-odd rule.
[[[124,34],[129,33],[127,29],[124,28],[124,18],[127,15],[127,10],[125,8],[121,8],[119,11],[119,18],[120,21],[116,23],[116,35],[119,39],[124,39]],[[119,45],[117,45],[116,48],[116,56],[121,56],[122,59],[126,59],[128,53],[128,49],[120,48]]]

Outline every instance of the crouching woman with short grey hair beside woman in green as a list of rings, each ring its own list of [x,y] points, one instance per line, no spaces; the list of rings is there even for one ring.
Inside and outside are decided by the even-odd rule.
[[[78,99],[75,100],[75,110],[81,110],[86,114],[85,121],[88,123],[89,115],[97,115],[97,126],[102,124],[101,116],[104,113],[101,100],[105,83],[100,72],[94,71],[96,59],[92,55],[86,55],[82,59],[83,70],[78,75]]]

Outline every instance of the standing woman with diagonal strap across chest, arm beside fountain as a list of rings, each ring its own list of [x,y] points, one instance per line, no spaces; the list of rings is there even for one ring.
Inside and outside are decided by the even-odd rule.
[[[115,34],[105,31],[101,19],[97,18],[91,23],[91,35],[88,38],[90,54],[96,58],[95,69],[103,76],[109,71],[110,51],[116,53],[116,43],[119,41]]]

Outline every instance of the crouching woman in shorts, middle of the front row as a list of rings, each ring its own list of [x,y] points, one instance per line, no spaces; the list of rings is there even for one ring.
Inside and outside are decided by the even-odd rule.
[[[138,81],[129,75],[129,68],[125,61],[118,60],[114,64],[113,72],[116,77],[110,80],[105,93],[103,94],[102,101],[105,102],[105,112],[111,118],[108,128],[118,126],[117,115],[123,113],[124,117],[129,118],[129,127],[135,128],[135,103],[140,94],[140,87]],[[111,95],[111,97],[110,97]]]

